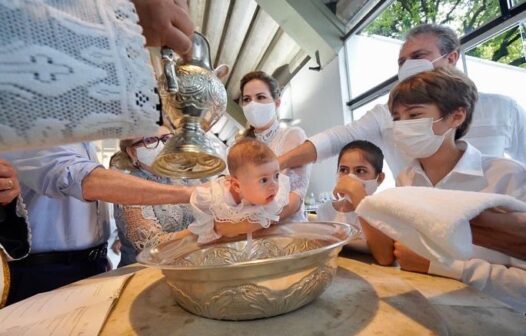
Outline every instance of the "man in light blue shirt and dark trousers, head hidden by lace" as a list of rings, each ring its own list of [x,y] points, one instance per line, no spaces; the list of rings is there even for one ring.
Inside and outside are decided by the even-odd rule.
[[[1,157],[17,172],[31,226],[31,254],[9,264],[8,304],[108,270],[109,214],[103,202],[187,203],[192,192],[105,169],[93,143]]]

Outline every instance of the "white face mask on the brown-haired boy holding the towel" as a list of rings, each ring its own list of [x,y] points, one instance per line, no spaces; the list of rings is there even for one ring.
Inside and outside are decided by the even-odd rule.
[[[454,128],[442,135],[433,132],[433,118],[399,120],[393,123],[394,143],[405,155],[412,159],[423,159],[435,154],[444,142],[445,137]]]

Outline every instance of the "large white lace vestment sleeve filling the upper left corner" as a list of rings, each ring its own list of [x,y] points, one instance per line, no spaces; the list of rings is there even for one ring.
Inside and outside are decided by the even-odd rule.
[[[0,0],[0,151],[154,133],[137,21],[128,0]]]

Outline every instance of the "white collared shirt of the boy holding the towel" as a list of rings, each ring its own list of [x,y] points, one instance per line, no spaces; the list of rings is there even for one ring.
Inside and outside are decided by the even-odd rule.
[[[482,155],[462,140],[458,144],[465,149],[464,154],[435,188],[506,194],[526,201],[525,166],[513,160]],[[400,173],[397,186],[433,187],[416,160]],[[473,259],[456,260],[450,265],[432,261],[429,273],[461,280],[526,313],[526,261],[507,257],[503,262],[488,262],[482,259],[486,257],[485,250],[478,247]]]

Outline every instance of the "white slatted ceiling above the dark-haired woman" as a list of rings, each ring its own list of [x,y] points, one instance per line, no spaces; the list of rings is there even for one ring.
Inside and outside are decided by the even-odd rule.
[[[189,6],[196,30],[210,43],[214,66],[230,66],[224,82],[233,99],[239,97],[239,81],[246,73],[262,70],[272,75],[285,66],[288,71],[282,68],[277,76],[284,85],[307,58],[254,0],[190,0]]]

